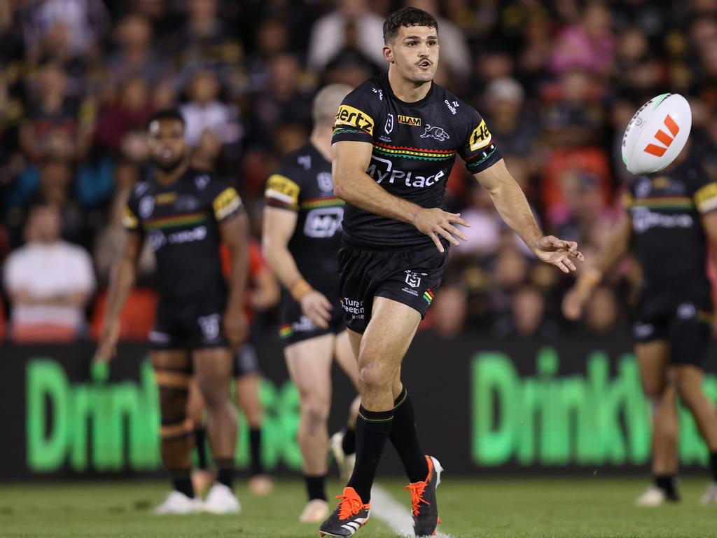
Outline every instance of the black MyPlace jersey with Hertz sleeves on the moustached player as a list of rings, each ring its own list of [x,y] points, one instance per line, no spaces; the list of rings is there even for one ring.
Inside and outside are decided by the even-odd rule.
[[[446,181],[460,155],[475,174],[500,160],[485,121],[473,107],[432,82],[422,100],[405,103],[391,90],[389,76],[361,84],[341,103],[333,142],[373,145],[366,171],[395,196],[421,207],[443,207]],[[413,247],[432,243],[416,227],[346,205],[344,237],[356,245]]]

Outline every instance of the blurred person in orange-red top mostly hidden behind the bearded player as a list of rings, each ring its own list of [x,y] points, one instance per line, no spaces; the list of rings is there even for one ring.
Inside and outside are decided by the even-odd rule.
[[[229,274],[231,259],[229,249],[222,245],[222,267],[224,275]],[[250,324],[253,323],[255,311],[266,311],[279,302],[279,285],[274,273],[262,257],[261,245],[249,242],[249,287],[247,288],[246,306],[244,308]],[[250,335],[251,339],[251,335]],[[249,489],[255,495],[267,495],[273,487],[271,478],[266,473],[261,459],[262,421],[264,410],[259,398],[261,374],[257,349],[251,341],[234,352],[234,379],[236,379],[235,396],[237,406],[247,419],[249,426],[250,448],[250,479]],[[196,383],[191,384],[189,392],[189,417],[194,423],[194,443],[197,453],[197,469],[192,472],[194,489],[201,494],[214,480],[214,473],[208,470],[206,453],[206,432],[204,428],[204,400],[201,398]]]

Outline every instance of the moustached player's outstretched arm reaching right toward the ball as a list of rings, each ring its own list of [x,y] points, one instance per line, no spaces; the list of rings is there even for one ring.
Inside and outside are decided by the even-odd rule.
[[[539,260],[555,265],[564,273],[576,270],[571,258],[584,261],[574,241],[564,241],[553,235],[543,235],[523,190],[500,159],[492,166],[474,174],[478,183],[488,191],[495,209],[516,232]]]

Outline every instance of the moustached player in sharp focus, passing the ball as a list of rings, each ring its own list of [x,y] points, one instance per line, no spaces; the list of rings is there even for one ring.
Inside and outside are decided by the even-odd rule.
[[[371,484],[389,438],[409,478],[414,532],[435,534],[442,469],[419,445],[401,363],[440,285],[449,243],[465,240],[454,224],[468,223],[441,209],[456,154],[540,260],[569,273],[570,258],[582,258],[576,243],[543,236],[483,118],[432,81],[438,34],[426,11],[392,13],[384,22],[388,74],[353,90],[336,115],[333,179],[347,202],[341,301],[361,371],[361,410],[356,465],[322,535],[350,536],[369,519]],[[438,377],[441,359],[427,375]]]

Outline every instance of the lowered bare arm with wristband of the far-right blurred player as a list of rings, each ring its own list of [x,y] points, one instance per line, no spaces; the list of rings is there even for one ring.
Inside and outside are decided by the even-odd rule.
[[[571,320],[579,319],[592,292],[610,269],[630,252],[632,242],[632,219],[627,212],[622,214],[615,231],[602,253],[592,259],[591,265],[579,275],[576,283],[563,298],[563,313]]]

